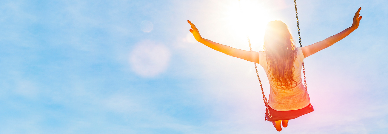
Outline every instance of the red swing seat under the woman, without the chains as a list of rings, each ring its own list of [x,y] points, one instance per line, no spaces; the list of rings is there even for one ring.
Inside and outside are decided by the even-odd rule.
[[[314,111],[314,107],[313,105],[311,105],[311,103],[308,104],[307,107],[303,109],[289,110],[289,111],[277,111],[272,109],[269,106],[268,108],[269,108],[269,112],[272,115],[271,118],[268,117],[268,109],[265,109],[265,120],[268,120],[268,121],[291,120]]]

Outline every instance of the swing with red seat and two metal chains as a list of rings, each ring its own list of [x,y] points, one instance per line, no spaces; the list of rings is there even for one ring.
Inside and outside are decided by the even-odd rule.
[[[240,2],[240,0],[239,0],[239,2]],[[298,20],[298,10],[296,8],[296,0],[294,0],[294,3],[295,3],[294,5],[295,5],[296,23],[297,23],[297,26],[298,26],[299,46],[302,47],[302,42],[301,42],[301,38],[300,38],[299,20]],[[240,5],[240,9],[241,9],[241,5]],[[248,36],[247,36],[247,38],[248,38],[249,49],[250,49],[250,51],[252,51],[251,41],[249,40]],[[263,87],[262,87],[262,82],[261,82],[260,76],[259,76],[259,71],[257,70],[256,63],[253,63],[253,64],[255,64],[257,78],[259,80],[260,88],[261,88],[262,94],[263,94],[263,101],[264,101],[264,105],[265,105],[265,120],[268,120],[268,121],[272,122],[272,121],[276,121],[276,120],[295,119],[295,118],[297,118],[297,117],[299,117],[301,115],[304,115],[304,114],[307,114],[307,113],[310,113],[310,112],[314,111],[314,108],[312,107],[311,104],[309,104],[307,107],[305,107],[303,109],[290,110],[290,111],[276,111],[276,110],[272,109],[271,107],[269,107],[268,102],[267,102],[267,97],[265,97],[265,95],[264,95],[264,91],[263,91]],[[307,92],[307,84],[306,84],[305,64],[304,64],[304,62],[302,62],[302,66],[303,66],[303,78],[305,79],[305,84],[304,85],[305,85],[306,92]],[[273,118],[272,118],[271,111],[274,113],[274,116],[275,116]],[[281,115],[283,115],[283,117]],[[286,117],[286,118],[284,118],[284,117]]]

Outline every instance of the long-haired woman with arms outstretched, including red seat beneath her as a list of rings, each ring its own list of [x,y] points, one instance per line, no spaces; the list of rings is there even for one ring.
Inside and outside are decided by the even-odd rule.
[[[296,47],[286,24],[282,21],[271,21],[267,25],[264,35],[264,50],[260,52],[244,51],[204,39],[199,34],[197,27],[192,24],[190,32],[202,44],[225,53],[229,56],[245,59],[260,64],[270,84],[268,109],[266,118],[272,121],[277,131],[288,126],[288,120],[312,112],[310,97],[301,79],[301,66],[303,59],[325,49],[348,36],[359,27],[361,7],[353,17],[353,24],[344,31],[328,37],[327,39],[305,47]],[[270,118],[268,118],[268,110]]]

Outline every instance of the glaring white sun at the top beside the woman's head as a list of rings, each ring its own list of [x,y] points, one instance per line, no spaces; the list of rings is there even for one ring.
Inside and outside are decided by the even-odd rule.
[[[274,20],[272,19],[274,15],[268,8],[265,4],[253,0],[241,0],[241,2],[235,0],[227,8],[227,25],[230,32],[239,40],[246,41],[246,36],[249,36],[253,51],[262,51],[265,27],[268,22]],[[248,44],[241,45],[248,46]]]

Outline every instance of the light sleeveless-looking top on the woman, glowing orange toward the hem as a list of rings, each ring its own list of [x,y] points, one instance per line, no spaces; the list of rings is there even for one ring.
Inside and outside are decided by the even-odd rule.
[[[302,109],[310,104],[310,96],[308,95],[305,86],[302,84],[301,77],[301,68],[304,56],[300,47],[297,47],[296,50],[297,54],[293,69],[294,80],[296,83],[293,83],[293,88],[291,90],[282,89],[279,88],[279,86],[276,86],[274,81],[269,81],[271,88],[270,95],[268,97],[268,104],[272,109],[277,111]],[[271,75],[268,74],[269,66],[267,64],[265,52],[258,53],[259,63],[264,68],[265,73],[267,73],[268,80],[271,80]]]

